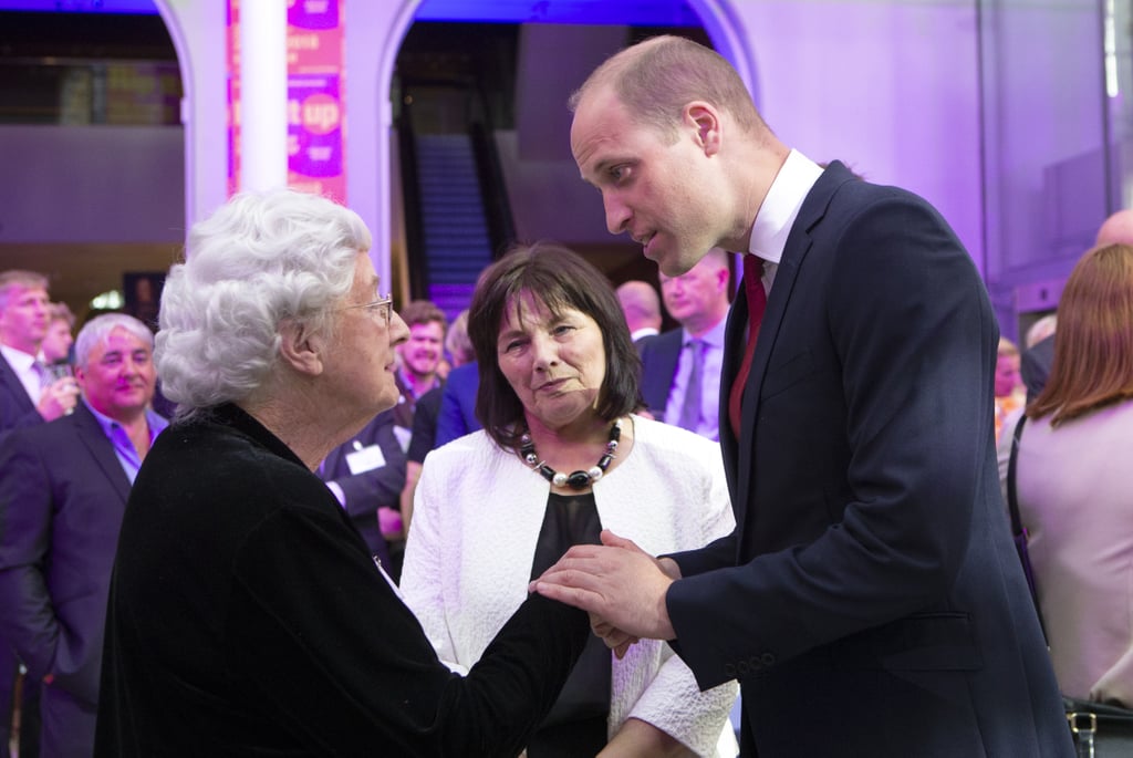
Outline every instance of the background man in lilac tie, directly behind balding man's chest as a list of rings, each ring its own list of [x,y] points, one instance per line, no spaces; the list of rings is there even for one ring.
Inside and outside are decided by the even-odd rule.
[[[681,326],[644,340],[641,398],[658,420],[719,440],[719,369],[730,305],[729,254],[713,248],[679,276],[661,273],[665,309]]]

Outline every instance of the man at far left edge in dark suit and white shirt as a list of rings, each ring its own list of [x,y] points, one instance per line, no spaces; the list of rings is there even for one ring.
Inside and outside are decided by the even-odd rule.
[[[59,418],[75,407],[71,377],[51,382],[37,360],[51,326],[48,278],[34,271],[0,273],[0,440],[10,431]],[[0,758],[8,756],[19,661],[0,637]],[[22,758],[39,755],[40,689],[24,680],[20,705]]]

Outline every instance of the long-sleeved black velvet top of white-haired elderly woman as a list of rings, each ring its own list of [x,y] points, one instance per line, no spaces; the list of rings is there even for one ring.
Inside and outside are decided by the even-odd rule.
[[[130,492],[95,756],[514,756],[589,637],[534,595],[451,673],[326,486],[221,407]]]

